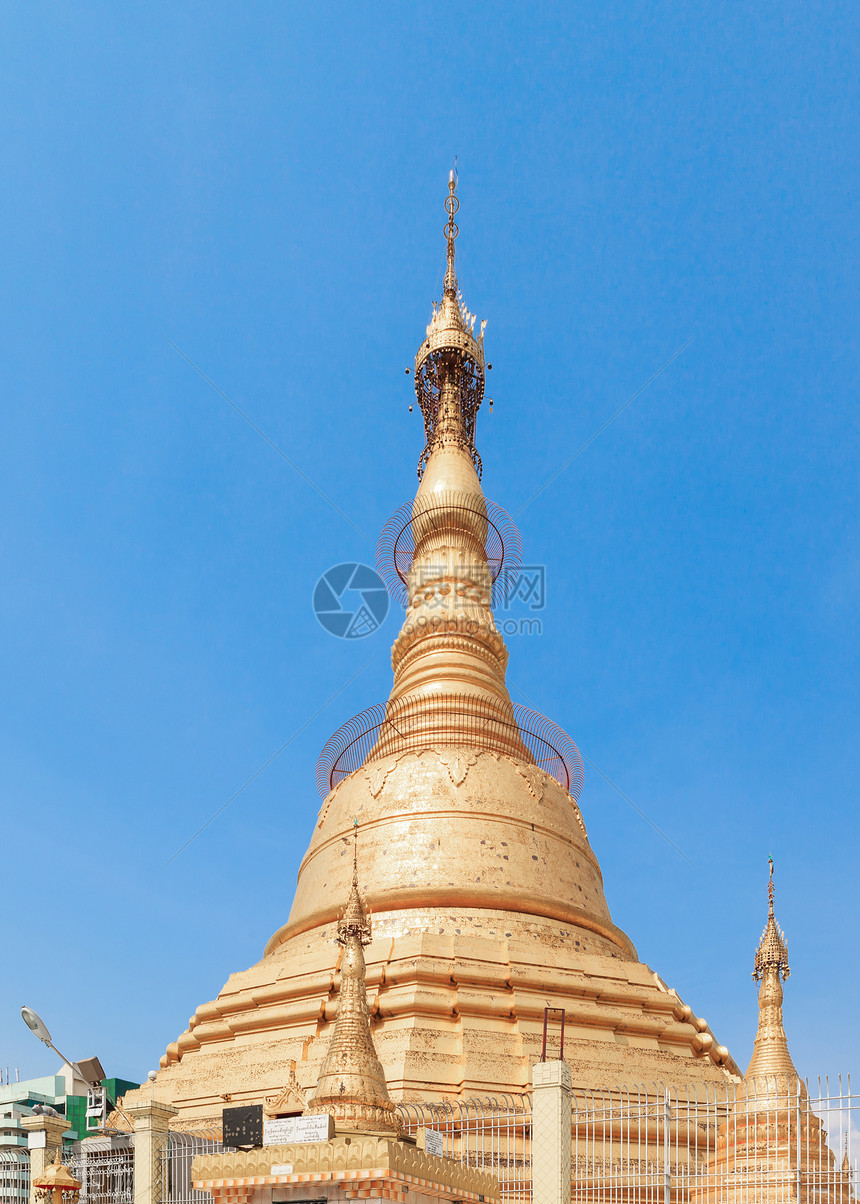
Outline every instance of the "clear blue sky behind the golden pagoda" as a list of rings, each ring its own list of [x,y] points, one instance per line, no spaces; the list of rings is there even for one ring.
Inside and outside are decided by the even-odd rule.
[[[588,759],[615,922],[743,1066],[773,855],[795,1061],[852,1069],[850,6],[34,0],[0,43],[0,1066],[53,1069],[26,1002],[142,1078],[285,921],[318,752],[390,687],[400,615],[338,641],[311,595],[416,486],[456,155],[488,496],[689,343],[518,517],[514,701]]]

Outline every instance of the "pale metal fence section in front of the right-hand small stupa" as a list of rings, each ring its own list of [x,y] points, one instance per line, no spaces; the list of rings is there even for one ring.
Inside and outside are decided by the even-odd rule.
[[[849,1204],[860,1199],[850,1080],[576,1091],[573,1204]]]

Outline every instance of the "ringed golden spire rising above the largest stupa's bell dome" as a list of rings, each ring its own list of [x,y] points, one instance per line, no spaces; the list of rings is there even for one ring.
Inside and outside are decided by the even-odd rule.
[[[530,761],[505,685],[508,654],[491,609],[488,502],[475,447],[485,323],[476,338],[475,315],[458,288],[454,217],[460,201],[453,171],[444,207],[448,266],[442,299],[434,303],[416,355],[426,443],[408,524],[413,555],[405,574],[406,618],[391,649],[394,722],[381,732],[377,752],[396,752],[406,746],[406,731],[420,730],[435,743],[494,748]]]

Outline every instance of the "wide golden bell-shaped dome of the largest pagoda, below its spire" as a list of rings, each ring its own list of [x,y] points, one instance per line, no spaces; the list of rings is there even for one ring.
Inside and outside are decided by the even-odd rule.
[[[582,951],[636,957],[572,796],[524,759],[455,744],[367,761],[329,795],[267,952],[335,920],[354,819],[377,939],[430,922],[440,936],[516,929],[553,945],[564,932]]]

